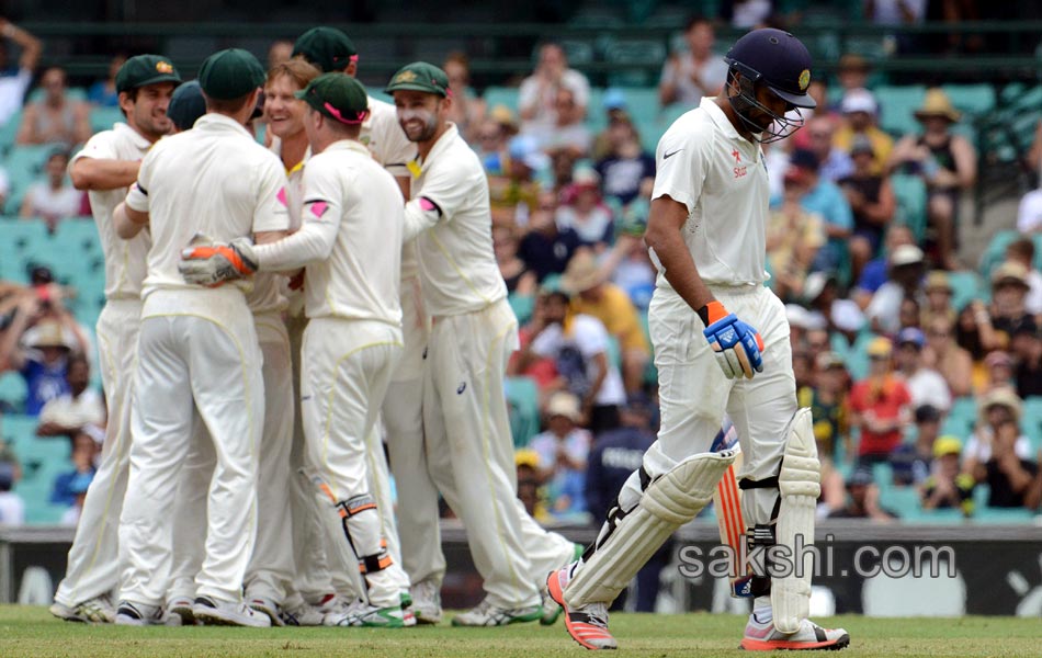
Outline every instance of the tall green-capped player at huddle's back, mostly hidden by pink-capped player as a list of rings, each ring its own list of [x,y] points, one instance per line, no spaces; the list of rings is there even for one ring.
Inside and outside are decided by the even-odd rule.
[[[325,71],[339,70],[358,73],[359,53],[354,43],[335,27],[315,27],[305,32],[294,44],[294,56],[310,61]],[[389,103],[369,97],[369,115],[362,123],[360,140],[369,147],[377,162],[384,166],[408,201],[411,173],[408,164],[416,158],[416,146],[408,140],[398,116]],[[445,570],[445,558],[440,545],[431,546],[438,523],[438,489],[427,472],[423,456],[423,351],[427,349],[430,318],[424,309],[419,279],[416,245],[412,240],[401,247],[400,305],[403,313],[403,350],[392,375],[390,387],[382,410],[387,434],[387,452],[395,473],[398,492],[398,519],[392,513],[390,487],[386,461],[380,457],[380,436],[370,436],[376,462],[371,473],[375,478],[374,492],[384,514],[387,548],[396,565],[404,567],[399,585],[404,586],[404,602],[411,600],[411,612],[420,623],[441,620],[439,589]],[[399,542],[399,532],[401,541]],[[396,567],[397,569],[397,567]],[[409,581],[414,583],[409,591]],[[409,612],[406,612],[407,621]]]

